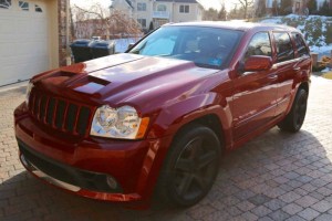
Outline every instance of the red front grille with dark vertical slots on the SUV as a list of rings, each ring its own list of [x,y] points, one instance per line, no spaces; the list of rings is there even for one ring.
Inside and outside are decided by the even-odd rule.
[[[87,135],[92,113],[87,106],[48,96],[33,88],[29,98],[29,109],[32,116],[44,125],[73,135]]]

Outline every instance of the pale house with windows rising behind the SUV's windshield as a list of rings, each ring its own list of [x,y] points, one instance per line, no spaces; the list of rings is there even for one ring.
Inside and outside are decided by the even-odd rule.
[[[196,0],[114,0],[111,9],[125,9],[143,29],[148,29],[151,22],[157,28],[168,22],[200,21],[204,12]]]

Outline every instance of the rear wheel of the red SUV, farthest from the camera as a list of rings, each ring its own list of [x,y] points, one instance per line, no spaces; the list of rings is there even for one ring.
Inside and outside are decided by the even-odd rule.
[[[299,88],[290,113],[278,124],[281,130],[297,133],[301,129],[307,113],[307,91]]]

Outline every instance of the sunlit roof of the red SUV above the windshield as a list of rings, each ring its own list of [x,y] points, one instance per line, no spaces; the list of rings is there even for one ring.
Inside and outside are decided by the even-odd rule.
[[[252,22],[243,22],[243,21],[198,21],[198,22],[181,22],[181,23],[168,23],[165,25],[177,25],[177,27],[209,27],[209,28],[224,28],[224,29],[232,29],[240,31],[249,31],[252,29],[259,30],[273,30],[273,31],[295,31],[299,30],[281,25],[281,24],[268,24],[268,23],[252,23]]]

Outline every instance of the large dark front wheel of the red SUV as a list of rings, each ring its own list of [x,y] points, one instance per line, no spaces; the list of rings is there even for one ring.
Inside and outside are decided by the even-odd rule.
[[[156,197],[166,206],[190,207],[211,189],[219,170],[220,141],[208,127],[191,124],[173,141]]]

